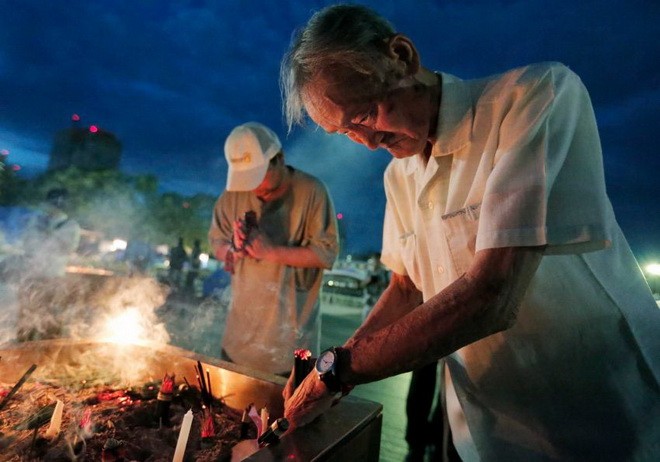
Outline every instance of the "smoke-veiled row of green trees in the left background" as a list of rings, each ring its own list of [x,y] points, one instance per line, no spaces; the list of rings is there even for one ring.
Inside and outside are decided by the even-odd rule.
[[[68,212],[84,229],[101,232],[107,238],[152,245],[172,245],[180,236],[191,246],[199,239],[208,249],[207,233],[215,203],[212,196],[159,194],[155,176],[132,176],[114,169],[82,171],[70,167],[48,171],[29,181],[13,173],[11,176],[16,184],[16,192],[11,197],[6,195],[11,205],[37,207],[50,189],[66,188]],[[4,190],[9,182],[0,178]]]

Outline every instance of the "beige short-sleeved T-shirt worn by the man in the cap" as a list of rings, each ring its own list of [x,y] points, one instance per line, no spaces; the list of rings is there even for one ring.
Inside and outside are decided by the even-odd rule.
[[[289,192],[273,202],[262,203],[252,192],[223,192],[214,209],[211,243],[230,242],[233,221],[253,210],[260,231],[273,244],[309,247],[331,268],[338,239],[330,196],[311,175],[294,169],[291,175]],[[318,352],[322,273],[322,268],[239,259],[231,279],[231,309],[222,339],[230,358],[257,370],[283,373],[291,370],[296,348]]]

